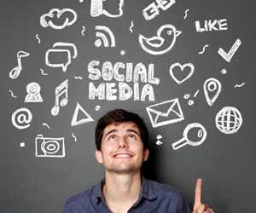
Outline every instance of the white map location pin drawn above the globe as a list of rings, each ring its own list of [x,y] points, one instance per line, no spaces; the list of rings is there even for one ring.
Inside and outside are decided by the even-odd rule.
[[[204,93],[207,104],[212,107],[222,89],[221,83],[216,78],[208,78],[204,83]]]

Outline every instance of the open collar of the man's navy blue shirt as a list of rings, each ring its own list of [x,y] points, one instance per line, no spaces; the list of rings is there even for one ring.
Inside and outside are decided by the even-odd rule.
[[[142,199],[148,199],[153,200],[156,199],[156,195],[154,193],[153,187],[151,186],[150,182],[142,177],[143,186],[139,195],[139,198],[137,199],[136,204],[138,204]],[[105,179],[102,179],[101,182],[99,182],[95,188],[94,188],[94,195],[96,199],[96,204],[99,204],[101,201],[105,203],[105,199],[102,193],[102,187],[105,184]]]

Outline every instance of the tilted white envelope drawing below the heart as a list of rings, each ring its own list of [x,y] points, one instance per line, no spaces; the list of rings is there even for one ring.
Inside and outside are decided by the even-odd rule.
[[[173,124],[184,119],[178,98],[146,107],[152,126]]]

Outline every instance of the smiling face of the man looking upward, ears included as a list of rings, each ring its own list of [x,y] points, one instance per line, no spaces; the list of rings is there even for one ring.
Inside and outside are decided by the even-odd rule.
[[[96,150],[96,159],[107,172],[119,174],[139,172],[148,159],[148,149],[136,124],[125,122],[110,124],[103,131],[102,150]]]

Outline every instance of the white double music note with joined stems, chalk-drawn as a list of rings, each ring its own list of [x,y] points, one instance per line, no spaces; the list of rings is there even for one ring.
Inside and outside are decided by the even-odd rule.
[[[60,112],[60,106],[65,107],[67,106],[68,102],[68,79],[62,82],[59,86],[55,89],[55,106],[51,109],[51,114],[56,116]]]

